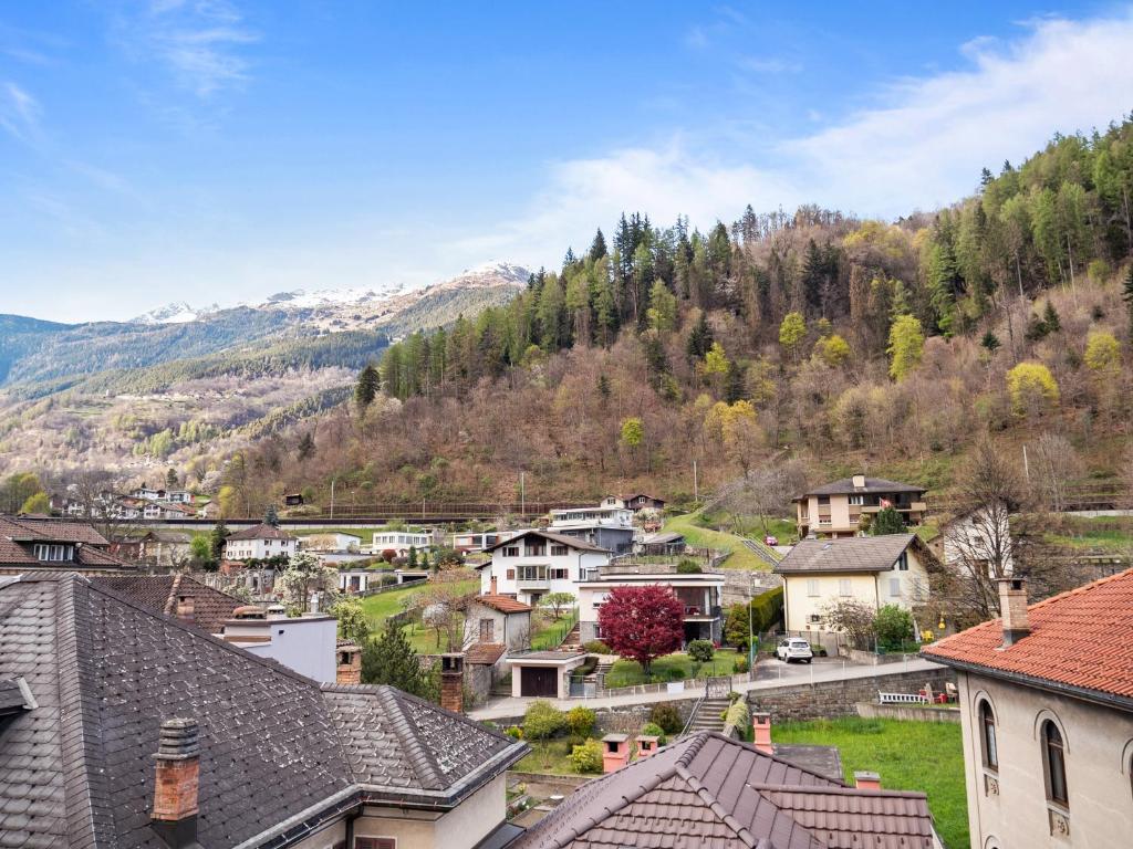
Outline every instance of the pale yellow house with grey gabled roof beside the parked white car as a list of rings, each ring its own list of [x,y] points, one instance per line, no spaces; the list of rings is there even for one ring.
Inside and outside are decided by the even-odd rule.
[[[826,611],[840,601],[913,610],[928,601],[928,569],[936,564],[912,533],[802,540],[775,567],[786,629],[828,631]]]

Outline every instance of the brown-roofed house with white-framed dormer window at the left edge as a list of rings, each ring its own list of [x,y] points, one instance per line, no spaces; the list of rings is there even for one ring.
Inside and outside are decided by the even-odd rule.
[[[0,516],[0,575],[31,572],[130,574],[137,566],[116,557],[91,525],[62,520]]]

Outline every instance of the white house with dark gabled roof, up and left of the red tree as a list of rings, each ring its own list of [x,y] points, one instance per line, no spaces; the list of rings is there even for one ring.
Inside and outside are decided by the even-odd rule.
[[[480,594],[513,595],[527,604],[551,592],[578,595],[586,573],[610,561],[606,549],[552,531],[521,531],[488,551],[492,559],[476,567]]]

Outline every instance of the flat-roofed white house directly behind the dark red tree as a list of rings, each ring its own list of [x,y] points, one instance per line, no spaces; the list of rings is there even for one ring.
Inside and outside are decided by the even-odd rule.
[[[602,640],[598,611],[612,590],[621,586],[667,586],[684,608],[684,642],[712,640],[724,633],[722,597],[724,576],[718,573],[681,574],[656,564],[611,563],[589,569],[578,585],[578,634],[581,642]]]

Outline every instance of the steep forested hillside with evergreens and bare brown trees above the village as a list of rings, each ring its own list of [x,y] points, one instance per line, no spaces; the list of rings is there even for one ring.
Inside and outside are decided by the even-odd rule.
[[[506,307],[391,346],[384,394],[324,415],[303,434],[318,451],[266,477],[339,475],[358,500],[510,499],[519,471],[528,497],[680,497],[693,460],[713,486],[794,456],[936,488],[985,434],[1064,477],[1119,474],[1133,123],[973,178],[895,223],[623,216]]]

